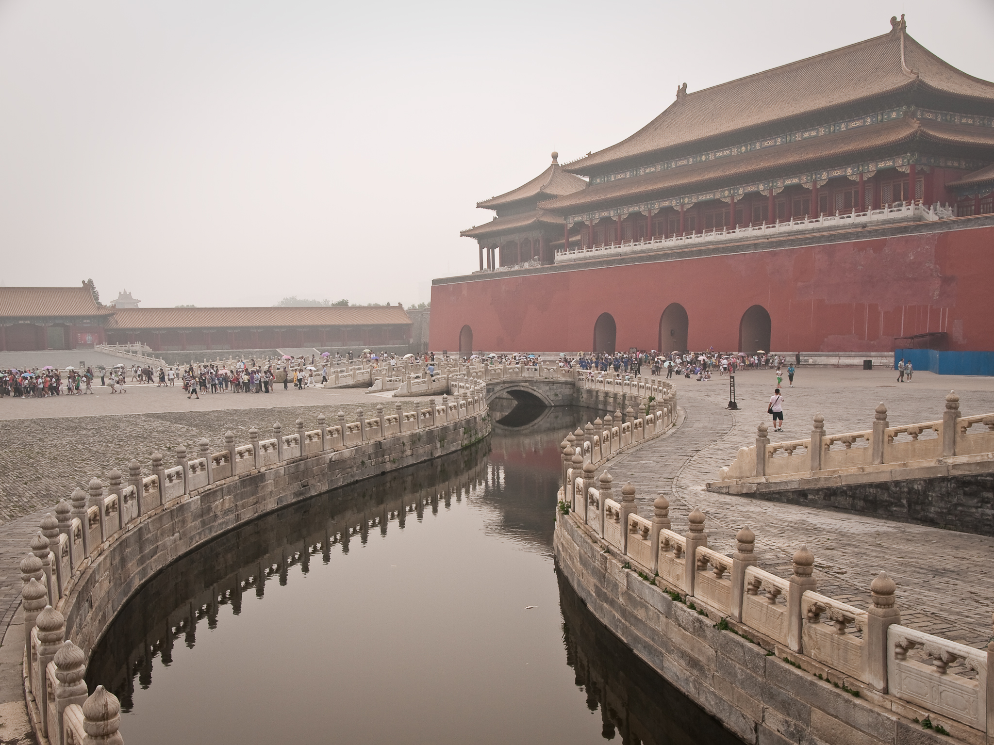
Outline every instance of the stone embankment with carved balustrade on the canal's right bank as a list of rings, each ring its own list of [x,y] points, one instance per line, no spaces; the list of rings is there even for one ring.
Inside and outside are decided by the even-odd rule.
[[[665,431],[665,411],[656,420]],[[588,447],[592,434],[563,442],[557,562],[601,623],[731,731],[748,743],[994,742],[994,643],[902,626],[883,572],[861,610],[817,592],[804,546],[783,579],[757,565],[747,527],[726,556],[708,547],[698,510],[682,534],[662,496],[642,518],[630,484],[615,501],[611,477],[596,477],[613,449]]]

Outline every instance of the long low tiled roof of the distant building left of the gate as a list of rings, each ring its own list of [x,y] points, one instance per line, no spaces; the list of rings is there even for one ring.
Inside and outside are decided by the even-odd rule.
[[[319,306],[314,308],[121,308],[110,329],[233,329],[291,326],[404,326],[404,308]]]

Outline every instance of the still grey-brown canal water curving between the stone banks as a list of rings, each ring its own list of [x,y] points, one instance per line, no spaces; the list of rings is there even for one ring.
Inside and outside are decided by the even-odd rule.
[[[495,408],[489,440],[181,558],[87,671],[131,745],[738,743],[557,572],[559,442],[589,411]]]

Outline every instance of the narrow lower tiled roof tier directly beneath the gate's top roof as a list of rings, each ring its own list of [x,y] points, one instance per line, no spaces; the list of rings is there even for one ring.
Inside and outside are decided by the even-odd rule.
[[[770,171],[802,171],[805,163],[852,156],[860,152],[910,142],[914,138],[961,144],[994,146],[994,131],[955,124],[934,124],[901,118],[866,129],[854,129],[824,137],[753,150],[719,160],[657,171],[644,176],[595,184],[576,194],[542,203],[544,210],[565,214],[598,203],[629,200],[669,190],[686,190],[708,182]]]

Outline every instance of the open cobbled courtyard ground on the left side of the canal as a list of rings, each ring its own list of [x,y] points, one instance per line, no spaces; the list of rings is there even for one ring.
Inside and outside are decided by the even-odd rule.
[[[216,452],[229,429],[242,445],[252,426],[265,439],[277,421],[287,434],[295,431],[297,418],[306,429],[316,429],[321,413],[331,425],[339,411],[347,421],[356,421],[360,408],[371,418],[378,404],[391,412],[401,401],[410,411],[427,400],[367,394],[362,388],[280,387],[269,395],[205,393],[199,401],[187,399],[178,386],[135,385],[124,395],[96,390],[85,396],[0,399],[0,420],[5,420],[0,427],[0,523],[54,508],[76,487],[85,488],[111,468],[126,474],[132,458],[148,475],[155,450],[171,466],[177,445],[195,453],[197,443],[207,437]]]

